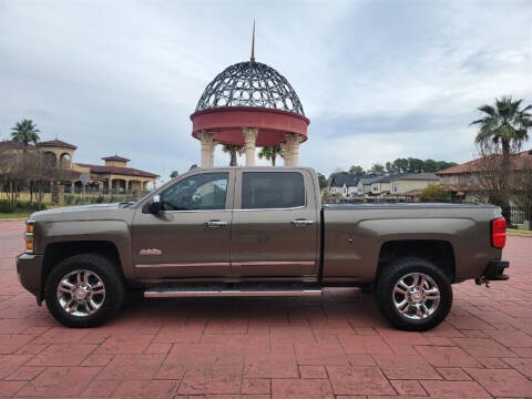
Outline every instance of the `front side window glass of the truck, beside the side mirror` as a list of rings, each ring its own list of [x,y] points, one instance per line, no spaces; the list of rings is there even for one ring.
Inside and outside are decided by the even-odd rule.
[[[225,209],[227,173],[202,173],[186,177],[161,194],[164,211]]]

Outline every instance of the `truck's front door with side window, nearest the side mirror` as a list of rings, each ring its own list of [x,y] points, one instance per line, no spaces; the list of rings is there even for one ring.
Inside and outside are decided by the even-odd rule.
[[[158,193],[162,211],[137,209],[133,263],[139,278],[231,276],[234,171],[195,172]]]

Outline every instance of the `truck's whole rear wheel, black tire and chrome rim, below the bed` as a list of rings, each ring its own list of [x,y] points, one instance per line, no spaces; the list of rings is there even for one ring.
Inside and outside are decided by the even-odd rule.
[[[452,306],[452,287],[433,263],[399,258],[383,266],[376,284],[376,301],[396,327],[424,331],[438,326]]]

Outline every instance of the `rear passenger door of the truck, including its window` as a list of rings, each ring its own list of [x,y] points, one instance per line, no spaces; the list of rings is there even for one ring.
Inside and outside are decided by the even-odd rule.
[[[310,172],[237,170],[235,187],[233,275],[316,276],[319,213]]]

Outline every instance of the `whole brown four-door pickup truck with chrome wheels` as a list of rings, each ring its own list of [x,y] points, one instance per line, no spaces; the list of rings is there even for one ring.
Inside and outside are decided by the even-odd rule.
[[[487,205],[321,205],[304,167],[195,170],[136,203],[38,212],[20,282],[71,327],[145,297],[314,296],[375,291],[395,326],[444,319],[451,284],[504,280],[505,221]]]

